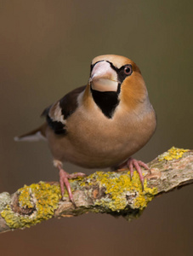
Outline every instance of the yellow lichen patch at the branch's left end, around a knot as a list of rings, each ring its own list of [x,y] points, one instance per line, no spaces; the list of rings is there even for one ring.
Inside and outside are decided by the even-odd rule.
[[[31,184],[30,186],[25,185],[17,193],[19,195],[20,208],[27,209],[27,212],[31,213],[15,213],[7,205],[1,215],[11,229],[30,227],[40,223],[43,219],[52,218],[61,196],[58,185],[50,185],[43,182]]]

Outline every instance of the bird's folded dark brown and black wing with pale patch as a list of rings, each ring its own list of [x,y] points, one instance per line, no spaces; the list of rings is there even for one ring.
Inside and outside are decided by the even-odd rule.
[[[46,108],[42,116],[45,116],[49,127],[51,127],[55,134],[66,133],[66,119],[77,109],[77,97],[85,90],[86,85],[71,90],[60,101],[55,102],[50,107]]]

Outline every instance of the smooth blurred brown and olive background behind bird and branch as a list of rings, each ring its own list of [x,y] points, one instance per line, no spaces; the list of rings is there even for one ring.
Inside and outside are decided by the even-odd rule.
[[[152,160],[173,145],[193,148],[192,7],[190,0],[1,0],[0,192],[58,180],[46,143],[13,137],[86,84],[96,55],[128,56],[144,76],[158,126],[136,158]],[[192,255],[192,193],[190,185],[162,195],[132,223],[86,214],[4,233],[1,254]]]

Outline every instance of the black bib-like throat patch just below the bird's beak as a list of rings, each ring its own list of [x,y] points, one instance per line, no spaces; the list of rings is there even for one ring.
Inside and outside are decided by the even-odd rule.
[[[119,104],[118,96],[120,92],[120,84],[118,85],[117,91],[99,91],[93,90],[91,87],[91,92],[94,102],[101,109],[102,113],[104,113],[107,118],[111,119]]]

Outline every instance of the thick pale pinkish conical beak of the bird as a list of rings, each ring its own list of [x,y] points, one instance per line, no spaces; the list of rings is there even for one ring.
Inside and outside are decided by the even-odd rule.
[[[93,90],[116,91],[118,86],[116,71],[111,68],[109,62],[99,61],[92,70],[90,84]]]

